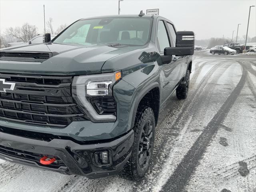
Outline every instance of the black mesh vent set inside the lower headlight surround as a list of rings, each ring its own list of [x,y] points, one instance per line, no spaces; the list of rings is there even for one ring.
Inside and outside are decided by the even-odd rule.
[[[116,115],[116,101],[113,97],[91,98],[90,102],[98,114]]]

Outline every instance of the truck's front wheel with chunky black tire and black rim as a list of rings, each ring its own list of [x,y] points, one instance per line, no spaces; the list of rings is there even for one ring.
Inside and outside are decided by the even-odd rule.
[[[129,180],[139,180],[146,174],[154,148],[155,117],[152,108],[144,108],[136,119],[132,154],[118,174]]]

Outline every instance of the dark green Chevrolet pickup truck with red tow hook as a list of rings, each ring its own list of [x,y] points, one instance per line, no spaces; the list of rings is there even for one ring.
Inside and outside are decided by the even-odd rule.
[[[160,109],[188,95],[194,32],[144,13],[0,50],[0,158],[90,179],[146,174]]]

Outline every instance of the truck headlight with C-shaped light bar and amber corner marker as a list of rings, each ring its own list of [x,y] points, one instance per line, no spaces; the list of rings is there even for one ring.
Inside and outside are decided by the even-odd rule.
[[[74,77],[73,97],[93,122],[114,122],[116,120],[114,114],[106,114],[101,110],[107,111],[108,108],[113,108],[111,106],[114,100],[112,88],[121,78],[120,71]]]

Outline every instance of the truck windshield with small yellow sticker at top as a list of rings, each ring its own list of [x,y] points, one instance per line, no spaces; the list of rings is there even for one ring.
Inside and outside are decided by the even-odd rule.
[[[99,18],[79,20],[53,42],[59,44],[144,45],[150,38],[152,18]]]

